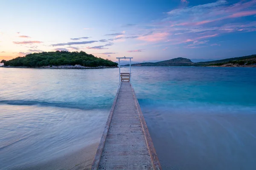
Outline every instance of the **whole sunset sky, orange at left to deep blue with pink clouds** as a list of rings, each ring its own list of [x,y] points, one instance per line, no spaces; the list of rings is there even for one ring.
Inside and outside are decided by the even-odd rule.
[[[256,0],[0,0],[0,60],[57,50],[139,62],[256,54]]]

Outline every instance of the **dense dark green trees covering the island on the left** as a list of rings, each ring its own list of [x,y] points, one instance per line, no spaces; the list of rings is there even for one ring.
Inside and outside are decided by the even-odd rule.
[[[42,52],[27,54],[24,57],[17,57],[9,61],[2,60],[4,66],[23,66],[23,67],[41,67],[41,66],[58,66],[58,65],[82,65],[86,67],[107,66],[116,67],[118,64],[109,59],[102,59],[87,54],[84,51],[68,52]]]

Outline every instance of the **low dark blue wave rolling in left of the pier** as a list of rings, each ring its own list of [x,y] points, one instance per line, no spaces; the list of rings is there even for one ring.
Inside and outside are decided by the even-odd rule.
[[[29,100],[0,100],[0,105],[38,105],[42,107],[58,107],[58,108],[71,108],[80,110],[93,110],[93,109],[106,109],[111,108],[111,105],[86,105],[79,103],[68,102],[44,102],[44,101],[29,101]]]

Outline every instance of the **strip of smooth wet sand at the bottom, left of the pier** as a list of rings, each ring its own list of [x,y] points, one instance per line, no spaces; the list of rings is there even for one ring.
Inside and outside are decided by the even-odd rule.
[[[99,143],[93,143],[57,159],[40,164],[17,166],[12,170],[90,170],[98,145]]]

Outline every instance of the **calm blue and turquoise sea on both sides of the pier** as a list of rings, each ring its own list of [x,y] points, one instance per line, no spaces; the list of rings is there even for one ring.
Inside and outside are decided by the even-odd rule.
[[[117,68],[0,76],[0,169],[99,141],[119,83]],[[132,84],[164,170],[256,168],[255,68],[133,67]]]

